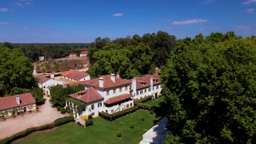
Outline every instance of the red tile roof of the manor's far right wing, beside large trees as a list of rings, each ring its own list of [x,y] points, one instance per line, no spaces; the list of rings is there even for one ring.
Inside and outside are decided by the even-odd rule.
[[[150,77],[153,78],[153,85],[161,83],[161,79],[157,74],[154,75],[145,75],[143,77],[135,77],[136,78],[136,89],[143,88],[143,87],[149,87],[150,86]],[[157,82],[154,82],[154,80],[157,80]],[[132,79],[128,80],[130,81],[130,88]],[[146,86],[143,85],[143,83],[146,83]]]

